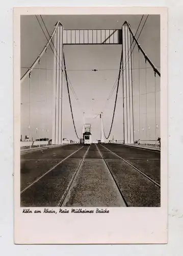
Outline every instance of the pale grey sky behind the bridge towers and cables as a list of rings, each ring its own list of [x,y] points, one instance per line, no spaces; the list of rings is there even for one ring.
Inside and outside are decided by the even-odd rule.
[[[142,15],[50,15],[42,16],[46,28],[51,34],[58,20],[64,29],[121,29],[125,20],[136,33]],[[38,17],[39,18],[39,17]],[[143,26],[146,15],[139,28]],[[39,18],[41,22],[41,18]],[[43,24],[41,23],[43,26]],[[43,47],[46,38],[40,28],[36,16],[21,16],[21,76],[31,67]],[[44,28],[44,27],[43,27]],[[44,29],[45,33],[46,30]],[[47,34],[46,34],[47,35]],[[48,35],[47,35],[48,36]],[[137,34],[138,36],[138,34]],[[139,43],[155,67],[160,70],[160,16],[149,15],[139,37]],[[121,45],[65,45],[64,54],[70,89],[73,116],[76,130],[81,136],[83,112],[86,123],[92,125],[93,141],[100,139],[100,119],[97,116],[103,112],[104,131],[108,135],[116,95],[115,91],[107,100],[119,73]],[[135,139],[154,140],[160,136],[160,78],[156,75],[156,123],[155,125],[155,78],[149,64],[145,66],[144,57],[135,47],[133,55],[133,88],[134,88],[134,135]],[[53,63],[54,55],[50,48],[43,55],[40,65],[36,65],[31,75],[21,83],[21,134],[31,137],[47,137],[51,139],[52,109],[53,109]],[[47,67],[47,69],[46,69]],[[145,69],[147,67],[147,69]],[[139,69],[140,68],[140,69]],[[97,69],[93,72],[92,69]],[[140,79],[139,79],[140,74]],[[147,83],[145,80],[147,77]],[[139,84],[140,80],[140,84]],[[31,88],[31,94],[30,90]],[[76,140],[66,82],[63,84],[63,137]],[[31,95],[31,97],[30,97]],[[31,108],[30,108],[31,98]],[[77,100],[76,100],[77,99]],[[109,139],[123,140],[122,111],[122,79],[120,79],[118,100],[114,117],[113,129]],[[30,111],[31,109],[31,111]],[[31,114],[31,115],[30,115]],[[36,133],[36,128],[38,132]]]

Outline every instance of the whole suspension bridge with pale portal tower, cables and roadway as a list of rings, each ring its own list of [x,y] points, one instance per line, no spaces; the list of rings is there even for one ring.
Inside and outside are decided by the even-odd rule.
[[[21,67],[21,206],[160,206],[161,73],[139,44],[148,15],[135,33],[127,21],[121,29],[87,30],[58,21],[49,33],[43,17],[35,18],[46,45],[31,67]],[[68,49],[76,46],[119,49],[101,104],[92,91],[102,96],[105,88],[90,84],[103,80],[97,65],[74,70],[90,73],[79,76],[86,84],[79,95],[71,83]],[[81,143],[86,119],[95,127],[90,145]]]

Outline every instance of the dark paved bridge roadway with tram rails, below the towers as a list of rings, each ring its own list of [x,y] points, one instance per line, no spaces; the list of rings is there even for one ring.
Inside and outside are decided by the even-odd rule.
[[[21,154],[21,206],[160,206],[160,152],[70,144]]]

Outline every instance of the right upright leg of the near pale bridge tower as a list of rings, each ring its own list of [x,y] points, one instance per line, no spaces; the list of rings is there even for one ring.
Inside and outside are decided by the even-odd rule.
[[[122,26],[123,136],[124,144],[134,143],[132,39],[125,22]]]

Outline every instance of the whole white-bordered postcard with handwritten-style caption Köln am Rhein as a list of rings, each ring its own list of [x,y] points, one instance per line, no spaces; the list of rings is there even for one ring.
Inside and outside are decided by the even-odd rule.
[[[18,243],[166,241],[166,25],[164,8],[16,9]]]

